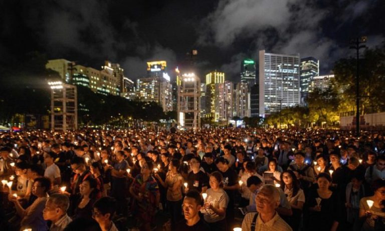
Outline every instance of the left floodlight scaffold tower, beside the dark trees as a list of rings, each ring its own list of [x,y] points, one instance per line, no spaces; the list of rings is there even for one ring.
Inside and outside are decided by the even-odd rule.
[[[78,94],[74,85],[48,82],[51,87],[51,130],[78,129]]]

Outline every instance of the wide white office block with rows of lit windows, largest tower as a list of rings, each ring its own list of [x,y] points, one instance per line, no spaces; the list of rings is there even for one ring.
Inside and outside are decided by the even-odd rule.
[[[300,103],[299,54],[259,51],[259,114],[264,117]]]

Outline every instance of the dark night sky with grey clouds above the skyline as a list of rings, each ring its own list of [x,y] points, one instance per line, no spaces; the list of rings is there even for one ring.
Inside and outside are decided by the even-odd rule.
[[[327,74],[354,55],[351,38],[366,35],[370,48],[384,41],[384,12],[383,0],[2,0],[0,61],[31,51],[98,69],[110,60],[137,79],[146,61],[173,68],[197,49],[198,73],[235,81],[241,60],[266,50],[313,56]]]

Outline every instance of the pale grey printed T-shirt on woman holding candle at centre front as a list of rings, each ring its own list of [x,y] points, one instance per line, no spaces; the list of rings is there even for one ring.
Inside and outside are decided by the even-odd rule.
[[[215,208],[227,208],[229,203],[229,196],[222,188],[219,191],[214,191],[212,188],[207,189],[207,198],[205,200],[206,203],[211,203]],[[208,223],[214,223],[220,220],[225,219],[226,214],[223,216],[218,215],[212,209],[201,209],[202,213],[204,213],[205,221]]]

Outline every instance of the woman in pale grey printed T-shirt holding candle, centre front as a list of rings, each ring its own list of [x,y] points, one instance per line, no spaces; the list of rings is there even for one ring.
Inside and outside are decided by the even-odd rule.
[[[229,196],[223,190],[223,176],[219,171],[210,175],[210,186],[207,189],[207,198],[201,212],[204,214],[205,221],[209,224],[211,231],[227,230],[226,208],[229,203]]]

